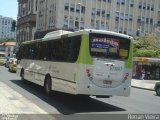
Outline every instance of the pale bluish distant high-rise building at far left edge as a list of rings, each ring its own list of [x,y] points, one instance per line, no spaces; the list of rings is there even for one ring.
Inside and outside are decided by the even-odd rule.
[[[0,16],[0,39],[16,38],[16,32],[12,31],[13,18]]]

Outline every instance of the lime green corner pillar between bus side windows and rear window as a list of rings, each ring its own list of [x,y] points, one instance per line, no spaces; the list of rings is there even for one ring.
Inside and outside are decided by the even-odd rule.
[[[92,64],[93,58],[90,55],[89,50],[89,35],[82,35],[81,48],[78,56],[78,64]]]

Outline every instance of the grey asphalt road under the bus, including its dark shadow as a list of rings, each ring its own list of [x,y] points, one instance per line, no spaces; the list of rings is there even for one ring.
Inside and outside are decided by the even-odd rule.
[[[23,83],[16,73],[0,66],[0,81],[49,114],[160,114],[160,97],[154,91],[132,88],[129,97],[79,98],[68,94],[45,95],[43,87]]]

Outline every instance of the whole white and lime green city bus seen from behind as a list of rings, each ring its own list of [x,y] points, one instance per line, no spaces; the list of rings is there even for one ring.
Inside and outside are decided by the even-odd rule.
[[[129,96],[133,38],[105,30],[55,31],[21,44],[17,73],[51,91]]]

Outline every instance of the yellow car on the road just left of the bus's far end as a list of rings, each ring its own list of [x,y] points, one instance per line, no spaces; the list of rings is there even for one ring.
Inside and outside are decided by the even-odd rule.
[[[9,62],[9,67],[8,67],[10,72],[16,72],[17,71],[17,59],[11,59]]]

